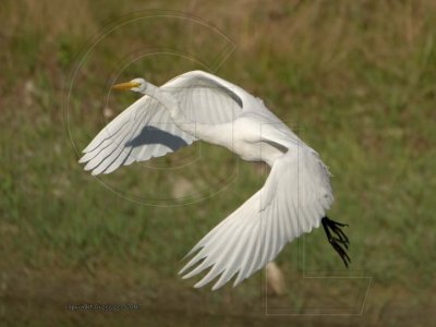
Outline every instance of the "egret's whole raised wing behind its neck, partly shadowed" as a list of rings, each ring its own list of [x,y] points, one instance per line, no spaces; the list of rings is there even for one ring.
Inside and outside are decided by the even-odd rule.
[[[180,110],[194,124],[217,125],[234,120],[242,112],[246,94],[201,71],[180,75],[160,88],[178,99]],[[120,166],[165,156],[194,141],[195,135],[181,130],[160,102],[144,96],[98,133],[83,150],[80,162],[87,162],[85,170],[93,174],[110,173]]]

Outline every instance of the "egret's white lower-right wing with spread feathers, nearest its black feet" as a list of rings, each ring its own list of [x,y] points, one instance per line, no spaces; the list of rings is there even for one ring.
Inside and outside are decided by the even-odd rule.
[[[180,274],[201,262],[183,278],[211,267],[195,287],[221,275],[216,290],[238,272],[237,286],[288,242],[318,227],[332,199],[329,172],[317,154],[306,146],[292,148],[275,161],[265,185],[194,246],[190,254],[199,252]]]

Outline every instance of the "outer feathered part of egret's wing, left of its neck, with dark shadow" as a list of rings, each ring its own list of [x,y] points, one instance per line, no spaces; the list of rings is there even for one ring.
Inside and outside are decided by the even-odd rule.
[[[83,150],[78,162],[93,174],[148,160],[192,144],[196,138],[179,129],[157,100],[143,96],[120,113]]]

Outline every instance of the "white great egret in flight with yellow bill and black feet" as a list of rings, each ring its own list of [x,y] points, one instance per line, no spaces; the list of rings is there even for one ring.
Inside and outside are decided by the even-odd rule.
[[[160,87],[134,78],[113,88],[144,96],[83,150],[80,162],[87,162],[85,170],[93,174],[164,156],[196,140],[271,167],[264,186],[186,255],[196,252],[179,272],[193,268],[183,278],[210,268],[196,288],[220,276],[216,290],[238,274],[237,286],[319,222],[348,267],[349,240],[341,230],[346,225],[326,216],[334,201],[327,167],[261,99],[203,71],[184,73]]]

